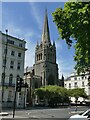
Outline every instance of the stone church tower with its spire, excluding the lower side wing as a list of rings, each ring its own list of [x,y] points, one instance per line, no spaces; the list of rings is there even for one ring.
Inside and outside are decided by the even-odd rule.
[[[42,79],[42,86],[58,85],[58,65],[56,63],[56,46],[50,41],[47,11],[44,17],[44,26],[41,43],[36,45],[34,74]]]

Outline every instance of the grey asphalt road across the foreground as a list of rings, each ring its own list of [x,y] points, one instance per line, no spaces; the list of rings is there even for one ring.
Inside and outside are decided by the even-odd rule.
[[[87,107],[79,107],[77,113],[87,110]],[[12,111],[8,111],[12,114]],[[23,118],[22,120],[68,120],[69,117],[76,114],[75,107],[71,108],[40,108],[31,110],[17,110],[15,114],[16,120]],[[11,115],[12,116],[12,115]],[[5,119],[6,120],[6,119]],[[8,120],[8,119],[7,119]]]

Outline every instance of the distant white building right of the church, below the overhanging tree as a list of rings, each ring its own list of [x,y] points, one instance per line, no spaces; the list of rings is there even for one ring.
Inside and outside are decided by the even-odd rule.
[[[67,89],[74,89],[74,88],[84,88],[86,94],[90,96],[90,86],[89,86],[89,80],[88,77],[90,74],[87,72],[85,74],[78,75],[76,72],[71,73],[71,75],[64,81],[64,86]],[[71,98],[72,102],[75,102],[75,98]],[[84,101],[83,98],[79,98],[78,101],[82,102]],[[90,101],[85,100],[85,101]]]

